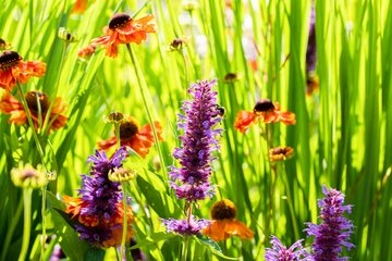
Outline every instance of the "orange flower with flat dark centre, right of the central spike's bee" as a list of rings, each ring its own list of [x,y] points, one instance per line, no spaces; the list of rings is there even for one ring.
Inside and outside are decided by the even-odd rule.
[[[253,112],[241,111],[238,112],[234,128],[241,133],[245,133],[252,125],[259,121],[264,123],[282,122],[284,124],[295,124],[295,114],[292,112],[282,112],[278,102],[272,102],[269,99],[261,99],[256,102]]]

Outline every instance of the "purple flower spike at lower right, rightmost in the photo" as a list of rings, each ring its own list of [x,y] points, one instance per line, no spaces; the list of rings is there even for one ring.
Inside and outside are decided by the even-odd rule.
[[[354,247],[348,241],[353,233],[353,223],[343,216],[344,212],[351,213],[352,206],[343,206],[344,195],[336,189],[328,190],[322,186],[322,192],[326,197],[318,200],[322,223],[320,225],[307,223],[308,228],[305,229],[308,236],[315,236],[311,247],[315,261],[347,260],[348,258],[339,256],[343,246],[348,250]]]

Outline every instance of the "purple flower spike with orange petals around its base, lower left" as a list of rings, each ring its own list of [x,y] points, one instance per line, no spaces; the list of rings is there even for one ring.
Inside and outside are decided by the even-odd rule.
[[[126,151],[120,148],[110,159],[105,151],[96,151],[88,158],[93,163],[90,176],[82,175],[82,198],[64,196],[65,212],[77,217],[79,224],[75,225],[81,239],[87,240],[96,247],[112,247],[121,244],[123,215],[127,215],[127,234],[132,232],[133,213],[131,207],[121,202],[122,192],[120,183],[111,182],[109,173],[122,166]]]

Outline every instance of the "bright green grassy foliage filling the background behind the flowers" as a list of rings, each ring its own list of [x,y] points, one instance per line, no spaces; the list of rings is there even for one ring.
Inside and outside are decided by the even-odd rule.
[[[171,154],[180,145],[176,114],[188,99],[187,87],[197,79],[218,78],[219,103],[226,113],[213,165],[217,196],[199,202],[196,211],[209,219],[211,204],[229,198],[237,207],[236,219],[255,237],[218,244],[195,238],[188,254],[203,260],[262,260],[270,235],[284,238],[286,245],[305,238],[304,222],[318,222],[317,199],[324,184],[342,190],[354,206],[350,217],[356,227],[352,238],[356,248],[348,256],[392,259],[392,3],[315,1],[319,89],[307,95],[310,0],[200,0],[192,10],[184,9],[184,2],[88,1],[83,14],[72,14],[75,1],[2,1],[0,37],[24,60],[47,63],[46,75],[32,78],[23,90],[41,90],[51,100],[60,96],[68,103],[66,126],[38,134],[44,162],[58,174],[48,186],[47,234],[57,236],[48,251],[59,243],[70,260],[113,258],[110,250],[93,249],[78,239],[72,227],[75,221],[64,214],[64,204],[54,195],[77,194],[79,174],[88,173],[87,157],[97,141],[113,135],[105,115],[120,111],[134,116],[139,126],[149,122],[137,87],[142,84],[152,119],[163,126],[164,141],[159,145],[159,163],[157,148],[145,159],[131,160],[138,173],[127,186],[135,212],[133,248],[151,260],[179,257],[182,237],[167,234],[160,219],[184,217],[184,202],[176,200],[168,169],[162,167],[175,164]],[[105,57],[101,49],[79,59],[77,51],[102,35],[117,11],[155,14],[157,34],[149,34],[143,45],[132,45],[133,59],[125,46],[119,46],[115,59]],[[79,41],[64,44],[57,36],[60,27],[69,28]],[[169,52],[174,38],[186,39],[184,47]],[[137,72],[145,82],[139,82]],[[224,82],[228,73],[237,74],[237,80]],[[16,90],[11,94],[16,96]],[[245,134],[235,130],[237,112],[252,111],[260,98],[294,112],[296,124],[258,124]],[[22,244],[22,191],[11,182],[11,169],[21,160],[41,162],[32,129],[9,124],[9,117],[0,114],[1,260],[15,259]],[[293,147],[294,158],[270,164],[268,150],[278,146]],[[32,257],[39,256],[40,200],[41,192],[35,191]],[[49,257],[46,252],[46,260]]]

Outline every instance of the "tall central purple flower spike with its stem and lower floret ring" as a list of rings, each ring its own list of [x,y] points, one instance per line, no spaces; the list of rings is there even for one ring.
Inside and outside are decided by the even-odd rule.
[[[176,197],[186,200],[186,219],[163,220],[163,224],[168,232],[185,236],[182,260],[186,259],[187,236],[200,234],[200,229],[208,225],[207,221],[195,220],[192,215],[193,203],[215,194],[209,177],[212,173],[211,162],[215,160],[212,151],[219,149],[217,136],[222,133],[222,129],[213,128],[221,121],[217,105],[218,94],[212,91],[215,85],[215,79],[193,84],[188,89],[192,100],[184,101],[184,115],[179,114],[177,126],[183,129],[179,137],[182,146],[174,149],[173,157],[180,161],[181,167],[171,166],[169,175]]]

